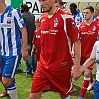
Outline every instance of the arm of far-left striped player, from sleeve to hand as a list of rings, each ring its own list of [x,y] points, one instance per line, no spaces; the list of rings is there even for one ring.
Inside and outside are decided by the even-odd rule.
[[[13,16],[16,27],[21,31],[22,34],[22,57],[24,60],[26,60],[28,58],[26,25],[19,10],[15,10],[13,12]]]

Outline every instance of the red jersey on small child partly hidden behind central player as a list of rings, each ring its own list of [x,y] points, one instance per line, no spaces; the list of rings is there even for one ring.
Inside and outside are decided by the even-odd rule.
[[[40,45],[40,30],[34,31],[34,38],[32,43],[36,46],[36,60],[40,59],[41,45]]]

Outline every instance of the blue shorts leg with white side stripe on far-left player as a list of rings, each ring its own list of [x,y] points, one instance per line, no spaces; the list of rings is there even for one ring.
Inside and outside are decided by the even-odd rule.
[[[3,57],[3,78],[14,78],[19,67],[21,55]]]

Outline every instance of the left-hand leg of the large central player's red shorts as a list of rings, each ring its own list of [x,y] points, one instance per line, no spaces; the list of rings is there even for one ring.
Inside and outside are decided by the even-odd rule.
[[[50,90],[49,80],[47,78],[47,72],[37,67],[32,80],[31,93],[41,92],[43,90]]]

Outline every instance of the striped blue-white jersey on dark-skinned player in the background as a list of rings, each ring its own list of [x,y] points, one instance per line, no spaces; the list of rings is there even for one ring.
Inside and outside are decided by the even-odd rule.
[[[83,22],[84,20],[84,15],[82,12],[77,11],[77,14],[72,16],[74,21],[76,22],[76,25],[78,25],[80,22]]]

